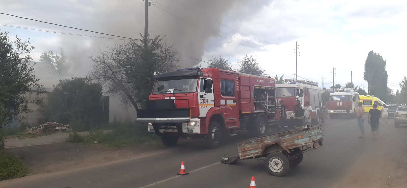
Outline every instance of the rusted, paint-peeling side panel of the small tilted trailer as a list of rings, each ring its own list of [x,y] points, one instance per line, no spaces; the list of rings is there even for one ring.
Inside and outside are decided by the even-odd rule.
[[[320,126],[317,126],[252,138],[237,144],[237,150],[240,159],[243,160],[264,157],[271,152],[283,150],[289,152],[290,149],[303,146],[315,149],[322,146],[322,141],[322,130]]]

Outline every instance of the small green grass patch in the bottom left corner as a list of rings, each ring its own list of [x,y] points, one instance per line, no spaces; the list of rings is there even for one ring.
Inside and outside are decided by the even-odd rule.
[[[17,155],[0,150],[0,181],[23,177],[28,174],[28,167]]]

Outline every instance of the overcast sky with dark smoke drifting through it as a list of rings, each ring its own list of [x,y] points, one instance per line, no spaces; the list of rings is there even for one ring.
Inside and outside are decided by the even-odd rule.
[[[150,1],[151,2],[151,1]],[[195,57],[208,61],[212,56],[236,61],[247,53],[265,69],[265,74],[295,73],[295,42],[298,41],[298,79],[342,86],[351,79],[363,80],[368,52],[379,52],[387,60],[388,86],[399,88],[407,75],[403,51],[407,42],[407,2],[353,0],[157,0],[149,7],[150,35],[166,35],[168,44],[182,54],[182,66],[195,66]],[[142,0],[2,0],[0,12],[74,26],[125,37],[144,31]],[[0,30],[23,39],[31,38],[32,57],[38,61],[43,50],[63,47],[75,62],[72,71],[83,76],[91,69],[89,56],[104,46],[122,42],[115,39],[66,35],[44,31],[108,37],[30,20],[0,15]],[[239,44],[240,43],[240,44]],[[205,65],[206,63],[202,63]],[[320,84],[322,86],[322,84]]]

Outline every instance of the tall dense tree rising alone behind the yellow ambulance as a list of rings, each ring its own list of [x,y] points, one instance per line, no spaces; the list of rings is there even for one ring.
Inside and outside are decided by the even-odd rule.
[[[370,51],[365,61],[364,79],[368,82],[368,93],[388,102],[386,60]]]

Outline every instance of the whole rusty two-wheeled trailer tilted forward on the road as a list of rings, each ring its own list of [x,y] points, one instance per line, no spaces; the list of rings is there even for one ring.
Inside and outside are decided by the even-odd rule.
[[[319,148],[323,141],[321,126],[255,137],[237,144],[239,156],[223,155],[221,162],[235,164],[240,160],[266,157],[265,167],[270,175],[284,176],[290,166],[302,162],[304,152]]]

